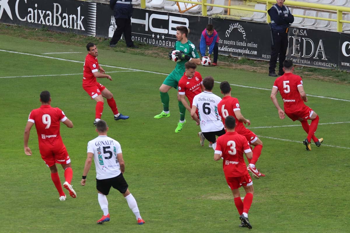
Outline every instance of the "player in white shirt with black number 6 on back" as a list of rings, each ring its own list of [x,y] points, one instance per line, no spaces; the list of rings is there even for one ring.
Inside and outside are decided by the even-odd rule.
[[[205,88],[204,92],[193,98],[191,116],[195,116],[196,110],[198,110],[199,122],[197,124],[201,126],[202,131],[200,136],[213,143],[212,147],[215,150],[216,136],[225,134],[224,125],[217,108],[221,98],[212,93],[214,78],[208,76],[203,79],[203,86]]]

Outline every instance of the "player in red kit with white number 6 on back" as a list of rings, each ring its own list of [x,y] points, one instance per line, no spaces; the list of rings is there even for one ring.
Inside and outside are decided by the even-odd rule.
[[[226,117],[235,117],[237,122],[235,129],[236,132],[245,136],[249,144],[254,146],[253,159],[248,159],[249,165],[247,167],[247,170],[252,173],[252,176],[259,179],[260,176],[265,176],[259,172],[257,168],[255,168],[255,163],[258,161],[261,155],[262,141],[255,135],[255,133],[245,128],[244,124],[248,123],[248,125],[250,125],[250,121],[244,118],[244,116],[241,114],[238,99],[231,97],[230,84],[227,81],[224,81],[220,83],[220,89],[224,97],[218,104],[219,115],[221,116],[224,124]]]

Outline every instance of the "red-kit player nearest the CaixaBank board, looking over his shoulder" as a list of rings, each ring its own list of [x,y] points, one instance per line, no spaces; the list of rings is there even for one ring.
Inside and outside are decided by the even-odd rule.
[[[107,103],[113,111],[114,120],[118,121],[120,119],[128,119],[128,116],[119,113],[113,94],[105,86],[96,81],[96,78],[107,78],[112,81],[111,76],[105,74],[105,70],[98,64],[98,51],[96,45],[88,43],[86,49],[88,54],[86,55],[84,62],[83,88],[85,92],[91,96],[91,99],[96,101],[95,121],[93,124],[96,125],[101,119],[104,104],[103,97],[107,99]]]

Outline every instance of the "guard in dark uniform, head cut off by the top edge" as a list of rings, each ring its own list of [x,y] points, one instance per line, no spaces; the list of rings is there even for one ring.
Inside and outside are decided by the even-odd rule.
[[[126,46],[129,48],[138,48],[131,39],[132,0],[110,0],[110,7],[113,9],[113,15],[117,26],[110,41],[110,47],[115,47],[121,35],[124,33]]]

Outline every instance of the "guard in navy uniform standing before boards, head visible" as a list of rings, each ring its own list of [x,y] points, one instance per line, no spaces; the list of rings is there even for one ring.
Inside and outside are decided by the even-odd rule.
[[[276,0],[268,11],[271,17],[271,57],[270,65],[268,67],[268,76],[277,77],[275,73],[277,57],[279,57],[279,71],[278,75],[283,75],[283,61],[286,60],[286,53],[288,48],[288,27],[290,23],[294,22],[294,16],[283,3],[285,0]]]

